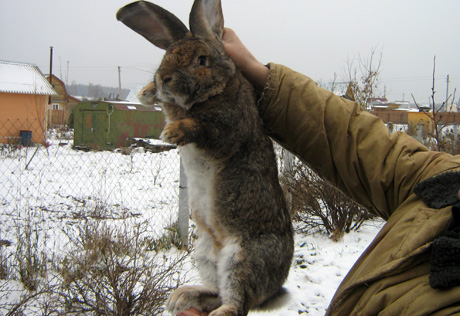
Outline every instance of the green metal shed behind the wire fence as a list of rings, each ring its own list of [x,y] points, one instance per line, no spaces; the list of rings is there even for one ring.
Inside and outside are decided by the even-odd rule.
[[[74,109],[74,146],[128,147],[133,138],[160,137],[165,125],[160,107],[125,101],[87,101]]]

